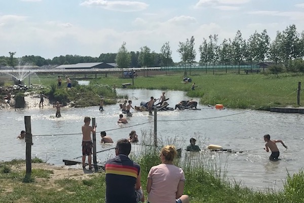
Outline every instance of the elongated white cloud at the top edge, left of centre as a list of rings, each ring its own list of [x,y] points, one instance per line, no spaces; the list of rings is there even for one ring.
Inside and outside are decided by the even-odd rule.
[[[112,11],[134,12],[142,11],[148,7],[148,4],[132,1],[105,1],[105,0],[86,0],[81,6],[99,6],[103,9]]]

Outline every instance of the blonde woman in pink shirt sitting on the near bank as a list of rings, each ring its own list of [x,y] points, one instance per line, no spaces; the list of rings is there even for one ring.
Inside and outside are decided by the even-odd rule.
[[[162,163],[151,167],[148,174],[147,193],[149,203],[189,203],[183,195],[185,176],[181,168],[173,164],[177,151],[174,146],[162,148]]]

